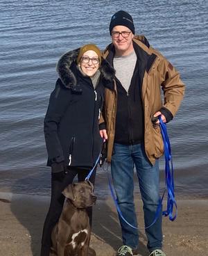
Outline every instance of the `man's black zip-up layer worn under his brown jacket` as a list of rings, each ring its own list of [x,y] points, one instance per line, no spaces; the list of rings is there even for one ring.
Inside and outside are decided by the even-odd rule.
[[[116,79],[117,111],[114,142],[123,145],[134,145],[144,141],[144,110],[141,100],[141,83],[144,77],[148,54],[141,51],[137,44],[133,43],[137,54],[137,63],[132,75],[128,93]],[[109,49],[107,61],[113,65],[114,47]]]

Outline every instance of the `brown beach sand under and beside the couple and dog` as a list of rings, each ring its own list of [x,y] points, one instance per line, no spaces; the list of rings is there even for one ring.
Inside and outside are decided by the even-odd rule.
[[[0,193],[0,255],[39,256],[42,226],[49,197]],[[142,209],[141,200],[136,200]],[[163,218],[164,251],[167,256],[208,255],[208,200],[177,200],[178,216]],[[139,226],[144,227],[141,210]],[[112,198],[94,206],[91,246],[98,256],[115,255],[121,246],[121,231]],[[140,255],[147,256],[144,228],[139,238]]]

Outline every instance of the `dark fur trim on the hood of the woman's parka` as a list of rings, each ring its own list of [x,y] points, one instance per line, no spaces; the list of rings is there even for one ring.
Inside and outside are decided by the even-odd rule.
[[[67,88],[71,88],[73,86],[76,86],[77,79],[73,71],[71,70],[71,65],[73,63],[76,63],[76,59],[78,57],[78,52],[80,48],[74,49],[72,51],[67,51],[67,53],[63,54],[57,65],[56,65],[56,71],[58,72],[58,75]],[[99,67],[99,70],[101,71],[101,78],[103,79],[103,85],[106,86],[108,83],[112,83],[114,77],[115,77],[115,70],[114,68],[105,61],[105,59],[102,57],[101,61],[101,67]]]

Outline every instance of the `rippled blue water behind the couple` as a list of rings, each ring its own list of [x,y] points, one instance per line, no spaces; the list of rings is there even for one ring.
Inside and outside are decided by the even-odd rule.
[[[168,125],[176,190],[208,195],[207,1],[0,1],[0,191],[48,195],[43,120],[58,58],[89,42],[110,43],[109,22],[127,10],[136,33],[180,71],[186,95]],[[161,164],[163,166],[163,163]],[[107,192],[98,171],[98,193]]]

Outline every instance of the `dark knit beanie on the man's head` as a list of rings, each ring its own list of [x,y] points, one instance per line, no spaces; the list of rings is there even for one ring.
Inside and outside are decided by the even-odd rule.
[[[133,34],[135,34],[135,25],[132,16],[124,10],[119,10],[119,12],[112,15],[109,26],[110,34],[114,26],[126,26]]]

